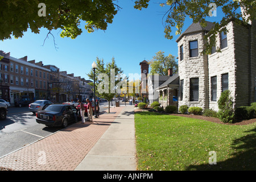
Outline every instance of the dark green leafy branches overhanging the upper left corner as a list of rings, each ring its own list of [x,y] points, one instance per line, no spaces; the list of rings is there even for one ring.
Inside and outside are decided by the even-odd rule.
[[[28,28],[35,34],[44,27],[49,30],[62,30],[61,37],[75,39],[81,34],[79,27],[85,21],[88,32],[106,30],[113,22],[119,6],[112,0],[30,0],[0,1],[0,40],[10,39],[11,35],[21,38]]]

